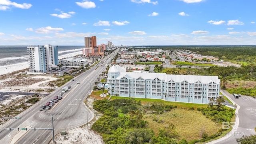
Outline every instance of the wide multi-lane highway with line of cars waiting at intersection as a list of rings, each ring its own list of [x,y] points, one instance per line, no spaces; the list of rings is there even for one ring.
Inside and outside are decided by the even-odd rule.
[[[113,57],[114,54],[111,54]],[[42,130],[40,128],[52,128],[52,118],[54,121],[54,134],[62,130],[76,128],[94,118],[94,114],[84,105],[84,99],[90,94],[94,82],[99,74],[106,70],[111,58],[106,56],[101,65],[95,65],[90,70],[76,76],[74,81],[69,81],[64,86],[71,86],[62,100],[56,103],[49,111],[40,111],[40,107],[45,105],[57,96],[62,87],[55,90],[37,104],[31,106],[24,112],[18,114],[21,119],[11,119],[0,127],[0,144],[48,144],[52,140],[52,130]],[[77,82],[80,84],[77,84]],[[88,110],[88,111],[87,111]],[[52,117],[51,117],[52,115]],[[4,128],[16,128],[6,130]],[[33,128],[33,130],[17,130],[17,128]],[[34,130],[36,128],[36,130]]]

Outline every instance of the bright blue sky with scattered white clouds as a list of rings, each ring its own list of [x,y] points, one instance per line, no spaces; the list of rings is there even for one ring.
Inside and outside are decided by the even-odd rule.
[[[0,0],[0,45],[256,45],[256,0]]]

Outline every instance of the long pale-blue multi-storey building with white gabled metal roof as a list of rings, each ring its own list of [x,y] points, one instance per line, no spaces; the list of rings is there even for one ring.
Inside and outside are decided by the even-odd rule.
[[[126,72],[118,65],[109,68],[107,83],[111,95],[172,102],[208,104],[220,94],[218,76]]]

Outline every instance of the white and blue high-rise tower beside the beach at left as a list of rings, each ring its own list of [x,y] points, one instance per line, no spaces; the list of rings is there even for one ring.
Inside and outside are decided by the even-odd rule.
[[[27,46],[30,72],[54,70],[58,65],[58,46]]]

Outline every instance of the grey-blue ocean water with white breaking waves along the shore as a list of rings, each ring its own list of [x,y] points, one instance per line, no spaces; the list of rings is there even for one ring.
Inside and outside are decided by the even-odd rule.
[[[58,56],[81,51],[84,46],[58,46]],[[0,46],[0,66],[28,62],[27,46]]]

